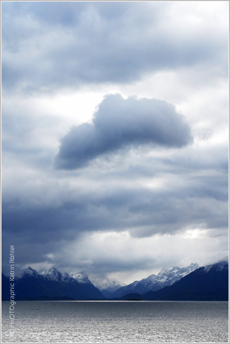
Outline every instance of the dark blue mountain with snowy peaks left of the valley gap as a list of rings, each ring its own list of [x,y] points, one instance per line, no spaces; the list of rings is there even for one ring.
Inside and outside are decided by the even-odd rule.
[[[4,299],[10,297],[9,278],[2,275]],[[67,298],[76,300],[101,299],[104,295],[82,272],[62,274],[54,267],[40,268],[39,273],[30,266],[15,275],[16,300]]]

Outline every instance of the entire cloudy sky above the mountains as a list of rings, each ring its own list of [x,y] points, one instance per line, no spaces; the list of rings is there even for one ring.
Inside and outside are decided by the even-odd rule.
[[[2,1],[2,272],[228,255],[228,1]]]

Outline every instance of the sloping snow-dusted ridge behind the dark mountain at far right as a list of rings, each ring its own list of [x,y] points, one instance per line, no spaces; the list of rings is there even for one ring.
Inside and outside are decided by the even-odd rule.
[[[183,268],[178,266],[163,268],[157,276],[153,274],[147,278],[141,279],[140,281],[134,281],[129,285],[117,289],[111,297],[122,297],[131,293],[144,294],[150,290],[156,291],[162,289],[174,284],[184,276],[196,270],[198,267],[199,265],[197,263],[191,263]]]

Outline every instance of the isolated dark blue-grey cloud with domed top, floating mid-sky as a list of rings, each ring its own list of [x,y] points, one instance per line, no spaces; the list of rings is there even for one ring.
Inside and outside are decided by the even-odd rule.
[[[56,165],[74,169],[122,147],[183,147],[191,141],[185,117],[173,105],[158,99],[108,95],[99,104],[92,124],[72,128],[61,140]]]

